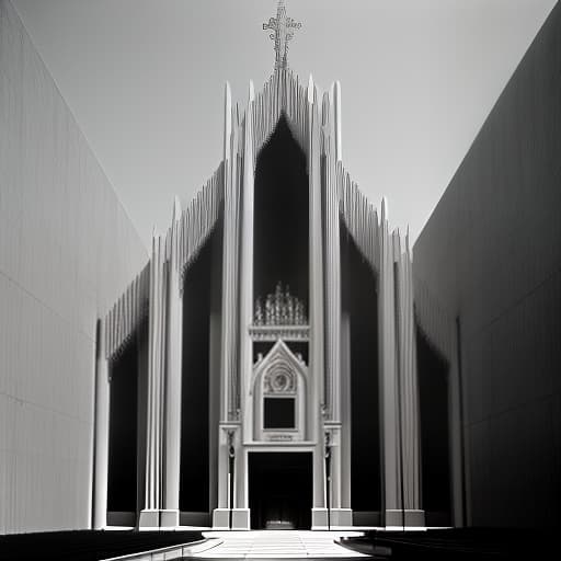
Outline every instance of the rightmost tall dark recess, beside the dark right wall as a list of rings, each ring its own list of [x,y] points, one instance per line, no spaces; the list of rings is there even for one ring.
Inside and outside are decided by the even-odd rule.
[[[448,363],[416,328],[422,505],[427,526],[451,525]]]

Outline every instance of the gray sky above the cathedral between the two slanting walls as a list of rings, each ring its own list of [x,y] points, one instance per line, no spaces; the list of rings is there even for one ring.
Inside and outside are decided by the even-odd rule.
[[[224,83],[273,71],[276,0],[12,0],[147,243],[221,158]],[[417,237],[554,0],[287,0],[289,66],[342,85],[343,161]]]

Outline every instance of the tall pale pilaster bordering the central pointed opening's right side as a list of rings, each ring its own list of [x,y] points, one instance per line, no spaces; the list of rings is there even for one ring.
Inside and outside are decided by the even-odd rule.
[[[325,473],[323,438],[323,243],[321,226],[321,146],[320,115],[317,91],[310,76],[308,84],[308,173],[310,197],[310,366],[308,397],[309,438],[313,451],[313,507],[312,528],[327,526]]]

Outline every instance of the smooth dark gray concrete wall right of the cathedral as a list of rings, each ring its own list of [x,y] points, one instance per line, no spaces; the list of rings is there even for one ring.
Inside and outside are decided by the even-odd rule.
[[[561,522],[560,69],[558,3],[414,245],[417,309],[430,295],[440,325],[460,320],[478,526]]]

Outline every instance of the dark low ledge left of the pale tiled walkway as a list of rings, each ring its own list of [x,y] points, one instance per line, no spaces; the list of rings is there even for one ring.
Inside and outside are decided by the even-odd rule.
[[[77,530],[0,536],[0,561],[99,561],[202,540],[201,531]]]

